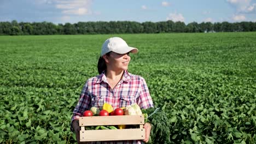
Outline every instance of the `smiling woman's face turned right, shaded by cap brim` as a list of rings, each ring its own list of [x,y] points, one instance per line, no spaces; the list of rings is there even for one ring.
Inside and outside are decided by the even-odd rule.
[[[108,56],[108,66],[112,70],[127,70],[131,57],[129,52],[125,54],[119,54],[110,52]]]

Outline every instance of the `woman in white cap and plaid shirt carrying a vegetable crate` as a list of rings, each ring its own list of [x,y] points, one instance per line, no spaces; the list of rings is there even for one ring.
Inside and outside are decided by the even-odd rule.
[[[121,38],[109,38],[103,43],[101,57],[98,60],[100,75],[86,81],[73,111],[71,130],[75,131],[78,142],[80,130],[78,119],[85,110],[90,110],[92,106],[100,109],[104,103],[108,103],[115,109],[137,103],[141,109],[153,107],[146,81],[143,77],[127,71],[131,60],[130,52],[137,53],[138,49],[128,46]],[[151,125],[145,123],[144,128],[146,138],[143,141],[148,142]],[[111,143],[141,143],[141,141],[113,141]]]

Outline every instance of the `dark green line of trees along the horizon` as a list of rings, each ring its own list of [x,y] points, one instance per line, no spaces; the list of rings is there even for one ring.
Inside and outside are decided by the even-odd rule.
[[[202,33],[202,32],[252,32],[256,22],[135,22],[97,21],[78,23],[52,22],[0,22],[0,35],[54,35],[54,34],[124,34],[124,33]]]

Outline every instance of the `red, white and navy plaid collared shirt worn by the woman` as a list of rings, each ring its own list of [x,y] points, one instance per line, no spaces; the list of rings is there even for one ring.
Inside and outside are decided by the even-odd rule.
[[[112,89],[108,85],[107,77],[103,72],[86,81],[78,104],[73,111],[72,122],[74,119],[79,119],[85,110],[90,110],[92,106],[101,109],[104,103],[112,105],[114,109],[135,103],[137,103],[141,109],[147,109],[154,106],[147,83],[143,77],[130,74],[125,70],[122,79]],[[141,141],[107,141],[91,143],[141,143]]]

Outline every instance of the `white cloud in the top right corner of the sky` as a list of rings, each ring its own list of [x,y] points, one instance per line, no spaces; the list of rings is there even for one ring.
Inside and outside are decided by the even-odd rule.
[[[256,3],[252,3],[252,0],[226,0],[231,5],[236,7],[238,13],[251,13],[256,11]]]

